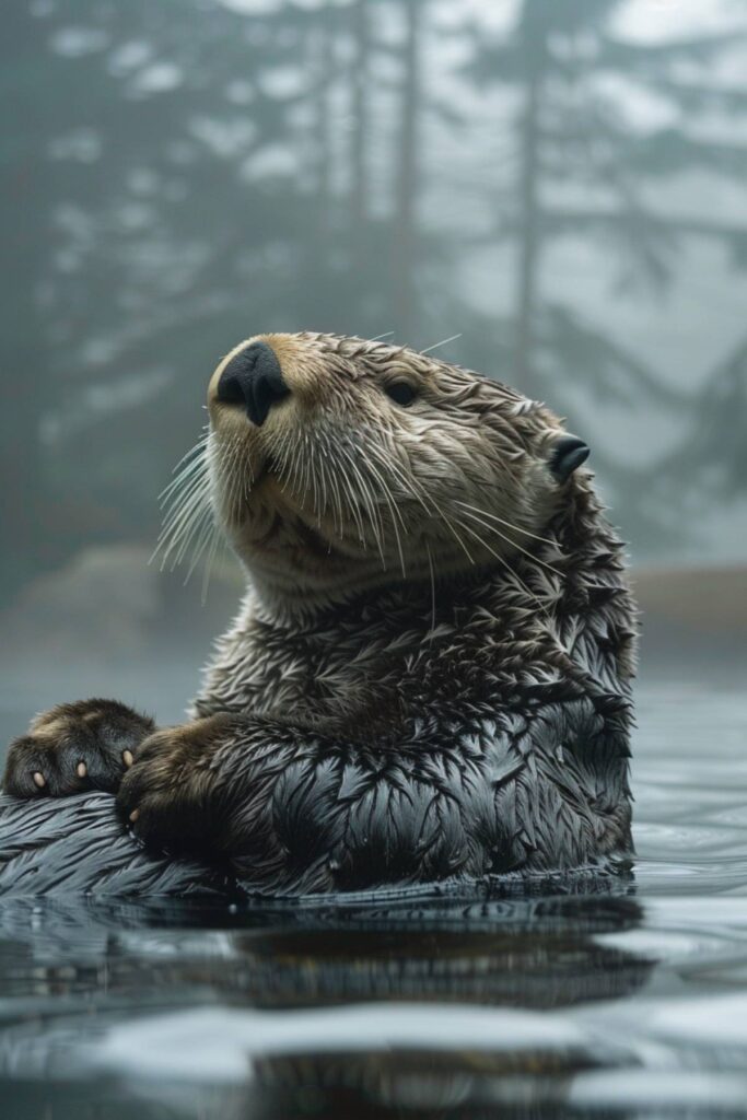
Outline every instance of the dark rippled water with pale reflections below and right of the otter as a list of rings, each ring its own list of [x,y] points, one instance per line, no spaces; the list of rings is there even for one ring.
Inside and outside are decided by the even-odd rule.
[[[639,724],[614,889],[2,904],[4,1114],[746,1116],[747,711],[682,690]]]

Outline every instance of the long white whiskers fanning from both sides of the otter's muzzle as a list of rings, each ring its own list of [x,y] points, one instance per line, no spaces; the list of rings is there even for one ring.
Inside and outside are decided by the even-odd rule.
[[[550,553],[553,559],[559,554],[558,542],[469,502],[437,500],[428,480],[415,478],[407,463],[398,458],[393,432],[370,427],[342,435],[306,429],[291,439],[284,429],[279,429],[269,435],[265,454],[281,492],[292,498],[291,510],[296,507],[301,521],[315,524],[323,540],[329,542],[329,549],[335,540],[357,538],[363,553],[373,545],[382,571],[387,571],[394,553],[403,579],[411,569],[418,578],[430,580],[431,629],[437,617],[437,561],[443,562],[448,556],[448,566],[454,566],[455,545],[445,542],[445,533],[454,538],[470,567],[484,563],[486,553],[495,559],[547,614],[554,594],[552,582],[542,580],[543,598],[544,589],[548,592],[543,603],[516,571],[512,553],[521,553],[530,564],[536,564],[534,576],[542,568],[562,577],[558,568],[516,538],[553,548],[554,556]],[[245,441],[240,433],[218,441],[206,430],[177,464],[174,478],[160,495],[164,524],[151,557],[160,560],[161,570],[166,567],[174,570],[187,560],[185,582],[204,561],[203,601],[222,539],[213,512],[211,461],[220,472],[221,520],[239,522],[244,516],[254,480]],[[418,544],[412,547],[415,540]],[[531,568],[526,571],[532,575]]]

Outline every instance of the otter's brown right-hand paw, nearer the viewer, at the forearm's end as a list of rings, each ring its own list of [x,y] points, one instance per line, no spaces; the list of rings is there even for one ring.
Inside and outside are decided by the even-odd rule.
[[[147,847],[204,852],[216,822],[213,736],[199,720],[151,735],[122,780],[118,809]]]

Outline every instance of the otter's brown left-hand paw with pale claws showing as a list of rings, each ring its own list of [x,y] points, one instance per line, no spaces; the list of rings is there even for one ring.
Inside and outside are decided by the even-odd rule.
[[[15,797],[113,792],[155,726],[115,700],[57,704],[11,743],[3,788]]]

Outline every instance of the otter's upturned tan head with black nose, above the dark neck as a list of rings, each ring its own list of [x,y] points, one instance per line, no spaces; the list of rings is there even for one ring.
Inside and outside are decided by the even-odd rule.
[[[207,400],[215,515],[254,581],[286,597],[506,563],[588,455],[505,385],[361,338],[256,335]]]

